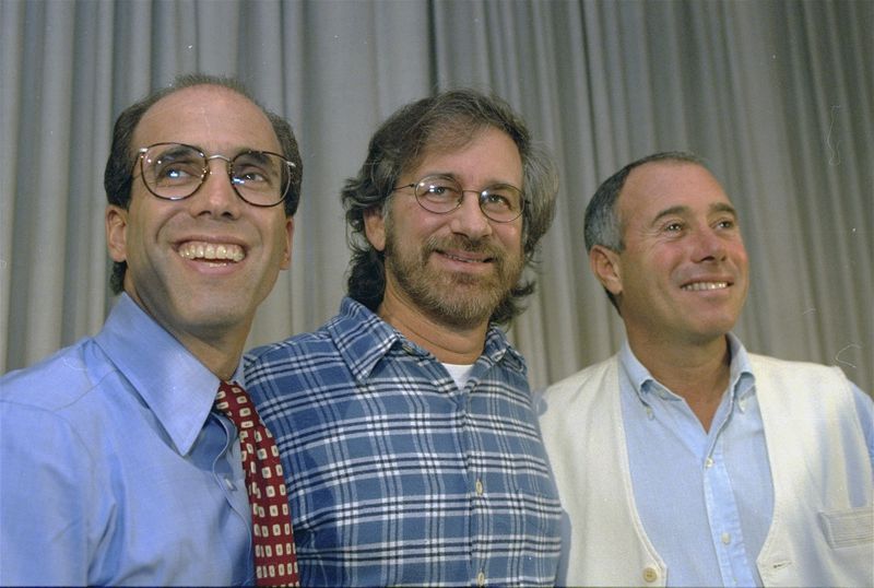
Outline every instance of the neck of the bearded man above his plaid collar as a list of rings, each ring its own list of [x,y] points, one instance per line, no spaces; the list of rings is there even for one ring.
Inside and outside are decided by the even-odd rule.
[[[487,320],[469,328],[448,326],[423,314],[412,304],[388,295],[377,314],[442,363],[473,364],[485,348]]]

